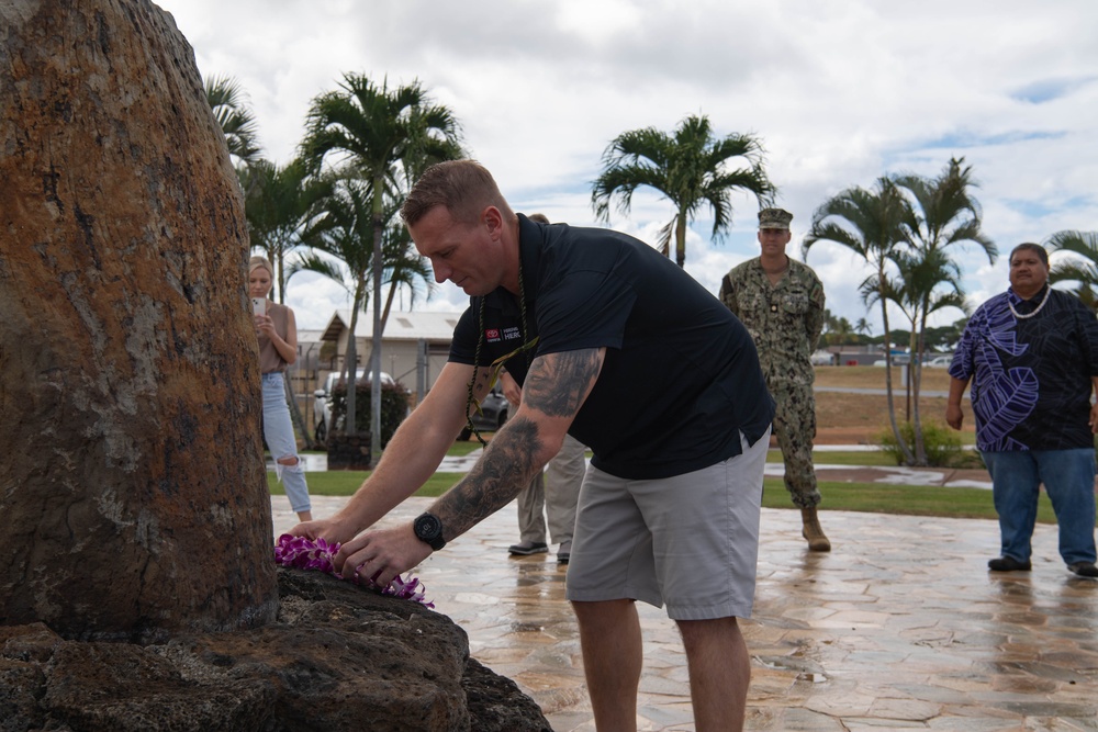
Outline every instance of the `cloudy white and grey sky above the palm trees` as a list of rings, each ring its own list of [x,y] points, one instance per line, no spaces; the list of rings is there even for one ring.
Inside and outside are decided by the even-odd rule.
[[[719,135],[766,149],[778,205],[794,213],[791,254],[813,211],[895,172],[937,174],[964,156],[986,233],[1006,254],[1065,228],[1098,229],[1098,2],[1093,0],[160,0],[204,77],[249,97],[266,157],[288,161],[310,101],[344,72],[418,80],[460,120],[467,149],[525,213],[602,225],[591,183],[627,129],[671,132],[705,114]],[[758,254],[753,199],[710,240],[688,234],[686,269],[716,292]],[[671,217],[638,192],[609,225],[647,241]],[[974,304],[1005,289],[1007,266],[959,257]],[[828,306],[856,322],[865,275],[840,247],[808,263]],[[288,286],[299,327],[321,328],[348,300],[309,273]],[[459,309],[440,288],[421,309]],[[405,305],[406,306],[406,305]],[[959,311],[942,320],[961,317]]]

